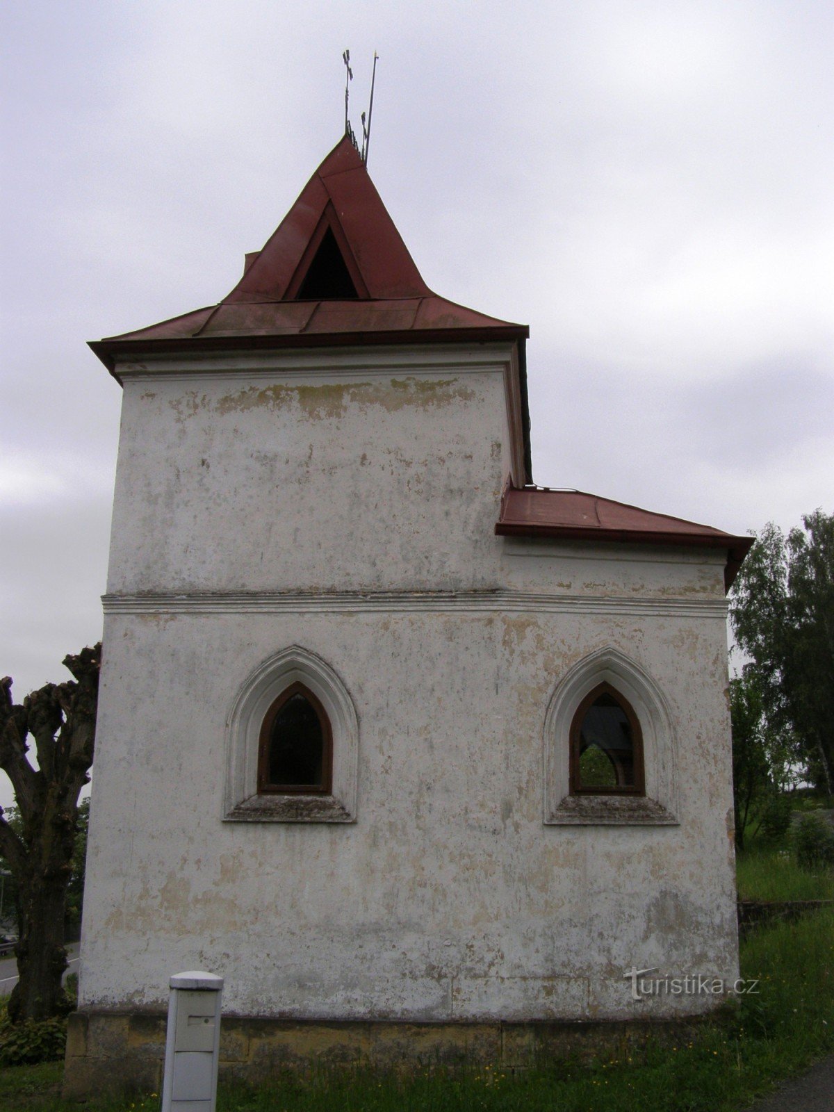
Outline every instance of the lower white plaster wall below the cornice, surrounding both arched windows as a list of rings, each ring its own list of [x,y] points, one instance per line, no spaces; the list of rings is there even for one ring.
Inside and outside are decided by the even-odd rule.
[[[170,972],[207,967],[244,1014],[698,1010],[634,1005],[622,974],[735,974],[723,628],[428,610],[109,617],[83,1003],[160,1003]],[[292,643],[355,701],[358,822],[224,824],[229,705]],[[677,827],[543,825],[549,693],[608,644],[681,723]]]

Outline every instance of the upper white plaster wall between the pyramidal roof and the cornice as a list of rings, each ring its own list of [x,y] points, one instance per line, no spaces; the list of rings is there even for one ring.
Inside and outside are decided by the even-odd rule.
[[[495,578],[509,348],[125,374],[109,592]]]

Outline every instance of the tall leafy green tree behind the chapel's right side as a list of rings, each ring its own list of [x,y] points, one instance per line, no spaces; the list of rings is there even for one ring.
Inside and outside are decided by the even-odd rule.
[[[792,731],[808,777],[834,785],[834,515],[803,517],[787,537],[773,523],[733,586],[731,619],[751,657],[768,724]]]

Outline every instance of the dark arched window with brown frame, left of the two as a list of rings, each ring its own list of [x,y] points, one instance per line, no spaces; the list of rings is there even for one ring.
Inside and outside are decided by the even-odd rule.
[[[327,794],[331,768],[332,731],[327,713],[309,688],[292,684],[264,717],[258,791]]]

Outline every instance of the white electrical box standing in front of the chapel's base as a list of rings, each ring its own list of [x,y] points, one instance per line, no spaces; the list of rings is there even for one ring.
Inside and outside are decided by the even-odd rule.
[[[222,986],[201,970],[170,980],[162,1112],[215,1112]]]

